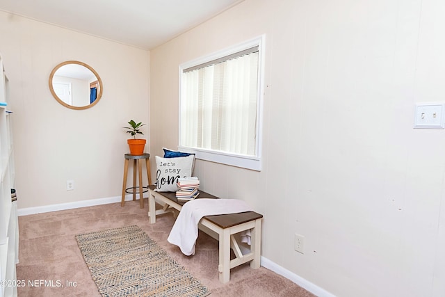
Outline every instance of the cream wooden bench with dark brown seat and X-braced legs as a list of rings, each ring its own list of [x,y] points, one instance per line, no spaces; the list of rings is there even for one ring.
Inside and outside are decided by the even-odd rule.
[[[175,192],[156,192],[155,186],[149,186],[148,216],[150,223],[156,223],[156,216],[168,212],[181,211],[184,201],[178,201]],[[219,199],[204,191],[196,199]],[[163,205],[163,209],[156,209],[156,202]],[[204,216],[198,227],[219,241],[220,282],[230,280],[230,269],[250,262],[250,267],[256,269],[260,266],[261,256],[261,214],[248,211],[238,214],[222,214],[218,216]],[[251,230],[250,252],[243,255],[234,234]],[[234,251],[235,258],[230,259],[230,249]]]

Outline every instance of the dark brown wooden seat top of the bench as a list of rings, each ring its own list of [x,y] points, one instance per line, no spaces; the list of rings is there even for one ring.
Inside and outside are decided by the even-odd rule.
[[[156,186],[151,185],[149,186],[149,188],[151,190],[154,190]],[[156,192],[156,193],[163,195],[165,198],[168,198],[169,200],[172,200],[173,202],[176,202],[179,205],[184,205],[184,203],[187,202],[181,200],[178,201],[175,192]],[[219,199],[214,195],[211,195],[209,193],[200,190],[200,195],[198,195],[196,199],[202,199],[202,198]],[[237,214],[218,214],[216,216],[204,216],[204,218],[211,221],[211,223],[223,229],[240,225],[242,223],[250,222],[251,220],[257,220],[258,218],[262,217],[263,217],[262,214],[258,214],[254,211],[240,212]]]

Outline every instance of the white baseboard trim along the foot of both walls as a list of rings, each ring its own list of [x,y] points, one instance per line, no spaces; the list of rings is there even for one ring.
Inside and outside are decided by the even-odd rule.
[[[116,202],[120,202],[120,200],[121,200],[120,196],[115,196],[115,197],[109,197],[109,198],[99,198],[99,199],[92,199],[92,200],[83,200],[83,201],[76,201],[76,202],[51,204],[51,205],[45,205],[42,207],[28,207],[28,208],[18,209],[17,215],[18,216],[28,216],[31,214],[42,214],[42,213],[51,212],[51,211],[60,211],[60,210],[66,210],[66,209],[76,209],[76,208],[81,208],[81,207],[90,207],[90,206],[94,206],[94,205],[116,203]],[[130,201],[130,200],[133,200],[131,195],[128,195],[127,197],[125,197],[125,201]],[[284,276],[284,278],[287,278],[287,279],[291,280],[292,282],[295,282],[300,287],[307,289],[307,291],[311,292],[312,294],[315,294],[318,297],[335,297],[333,294],[330,294],[329,292],[325,291],[321,287],[316,286],[316,284],[313,284],[312,282],[309,282],[308,280],[301,278],[299,275],[296,275],[295,273],[276,264],[275,262],[270,261],[266,257],[261,256],[261,266],[264,266],[265,268],[268,268],[269,270],[271,270],[279,275]]]

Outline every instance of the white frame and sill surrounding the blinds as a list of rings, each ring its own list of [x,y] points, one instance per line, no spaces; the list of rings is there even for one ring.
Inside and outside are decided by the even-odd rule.
[[[227,49],[217,51],[213,54],[197,58],[193,61],[188,61],[179,65],[179,144],[181,144],[181,76],[184,69],[194,67],[209,61],[223,58],[231,54],[235,54],[239,51],[249,49],[251,47],[258,47],[258,84],[257,84],[257,127],[256,127],[256,141],[255,155],[244,154],[230,154],[227,152],[221,152],[217,150],[207,150],[197,147],[185,147],[179,145],[178,149],[184,152],[195,153],[196,159],[202,159],[205,161],[211,161],[216,163],[223,163],[229,166],[236,166],[241,168],[247,168],[250,170],[261,171],[261,145],[262,145],[262,131],[263,131],[263,95],[264,95],[264,40],[265,35],[261,35],[252,40],[248,40],[238,45],[234,45]]]

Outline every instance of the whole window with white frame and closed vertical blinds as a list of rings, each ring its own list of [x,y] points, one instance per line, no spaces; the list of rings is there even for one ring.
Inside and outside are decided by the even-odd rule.
[[[262,40],[180,66],[181,149],[197,159],[261,170]]]

